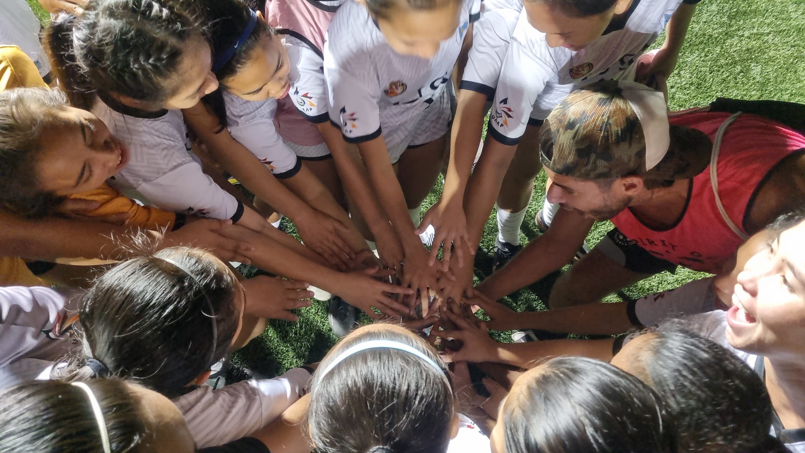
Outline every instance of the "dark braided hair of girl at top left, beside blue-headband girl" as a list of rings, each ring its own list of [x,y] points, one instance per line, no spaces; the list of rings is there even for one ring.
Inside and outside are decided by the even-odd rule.
[[[159,106],[179,89],[184,44],[196,38],[204,33],[188,0],[89,2],[80,17],[56,15],[46,33],[56,77],[87,110],[96,90]]]

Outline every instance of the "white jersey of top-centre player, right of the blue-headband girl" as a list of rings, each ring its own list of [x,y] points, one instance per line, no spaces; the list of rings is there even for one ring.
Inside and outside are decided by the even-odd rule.
[[[394,52],[365,6],[349,0],[336,12],[324,44],[324,78],[329,119],[347,141],[360,143],[383,135],[411,140],[410,127],[450,81],[469,23],[480,2],[462,2],[459,27],[442,41],[431,60]]]

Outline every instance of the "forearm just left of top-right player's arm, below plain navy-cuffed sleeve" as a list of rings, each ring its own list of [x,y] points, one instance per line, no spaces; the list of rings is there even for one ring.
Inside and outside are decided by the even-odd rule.
[[[442,199],[464,203],[473,161],[481,144],[486,96],[462,89],[458,93],[456,118],[453,120],[448,172],[444,177]]]

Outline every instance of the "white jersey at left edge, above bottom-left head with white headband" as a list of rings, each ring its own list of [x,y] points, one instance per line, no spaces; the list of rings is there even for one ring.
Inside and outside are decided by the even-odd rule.
[[[52,364],[78,342],[80,290],[0,288],[0,389],[47,379]]]

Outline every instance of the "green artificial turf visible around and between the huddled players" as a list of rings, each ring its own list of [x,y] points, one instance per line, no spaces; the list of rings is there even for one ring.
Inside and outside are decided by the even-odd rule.
[[[47,21],[47,12],[39,3],[27,1],[37,17],[43,23]],[[660,36],[654,47],[663,39]],[[716,97],[805,102],[805,0],[703,0],[668,86],[671,110],[704,106]],[[541,173],[522,227],[524,244],[537,235],[534,216],[543,204],[544,187],[545,175]],[[422,212],[440,195],[439,182],[423,203]],[[610,222],[596,223],[588,244],[596,244],[611,227]],[[489,275],[496,235],[493,210],[477,252],[476,280]],[[639,297],[675,288],[702,275],[679,268],[675,274],[663,272],[631,285],[624,293]],[[532,288],[521,289],[503,301],[514,310],[545,309]],[[250,368],[268,374],[320,359],[336,342],[328,326],[326,302],[315,301],[312,307],[296,313],[299,321],[295,323],[271,321],[266,333],[238,351],[237,357]],[[506,333],[493,332],[493,336],[507,339]]]

